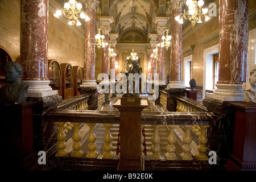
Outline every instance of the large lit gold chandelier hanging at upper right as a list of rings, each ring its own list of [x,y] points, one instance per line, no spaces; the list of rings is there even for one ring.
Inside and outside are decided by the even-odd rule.
[[[205,15],[208,12],[208,9],[202,9],[202,6],[204,5],[203,0],[199,0],[198,2],[196,0],[187,0],[186,5],[188,6],[188,11],[185,11],[181,13],[180,15],[175,17],[175,20],[179,22],[180,24],[183,24],[183,18],[189,19],[191,21],[192,27],[195,27],[196,23],[203,23],[202,22],[202,16],[205,16],[205,22],[207,22],[210,17]]]

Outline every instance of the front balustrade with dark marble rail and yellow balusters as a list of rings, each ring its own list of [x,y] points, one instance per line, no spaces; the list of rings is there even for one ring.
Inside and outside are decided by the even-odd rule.
[[[106,110],[67,110],[67,109],[56,109],[46,114],[47,121],[55,122],[59,127],[57,134],[57,152],[55,156],[67,156],[68,152],[65,149],[65,139],[66,135],[64,132],[64,124],[70,122],[74,126],[73,130],[73,152],[72,157],[81,158],[84,151],[81,151],[81,134],[79,131],[79,124],[86,123],[89,126],[88,135],[88,152],[84,156],[85,158],[97,158],[98,152],[96,151],[97,136],[94,131],[96,123],[102,123],[105,126],[104,135],[104,147],[102,159],[113,159],[113,147],[112,147],[112,134],[110,129],[114,123],[119,123],[119,111],[106,111]],[[142,125],[152,125],[154,129],[154,134],[151,137],[151,154],[150,160],[160,160],[159,143],[161,138],[159,137],[158,130],[160,125],[167,125],[170,129],[168,134],[168,145],[167,153],[165,154],[165,160],[178,160],[175,155],[175,143],[176,135],[175,128],[177,125],[185,126],[185,135],[183,137],[183,152],[180,154],[179,159],[181,160],[208,160],[207,157],[207,128],[210,127],[211,123],[216,121],[218,117],[214,113],[196,112],[196,113],[180,113],[180,112],[158,112],[158,111],[142,111],[141,123]],[[199,125],[201,128],[201,133],[198,138],[198,154],[195,158],[191,156],[192,142],[190,130],[194,125]],[[132,133],[131,133],[132,135]],[[141,145],[143,143],[143,136],[141,139]],[[121,143],[122,147],[123,143]],[[142,147],[143,148],[143,147]],[[142,152],[143,153],[143,152]],[[142,156],[143,158],[144,156]],[[161,159],[163,160],[163,159]]]

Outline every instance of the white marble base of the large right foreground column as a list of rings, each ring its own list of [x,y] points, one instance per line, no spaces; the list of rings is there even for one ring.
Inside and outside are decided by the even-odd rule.
[[[213,93],[208,93],[209,98],[230,102],[245,100],[242,84],[216,84],[216,86],[217,89]]]

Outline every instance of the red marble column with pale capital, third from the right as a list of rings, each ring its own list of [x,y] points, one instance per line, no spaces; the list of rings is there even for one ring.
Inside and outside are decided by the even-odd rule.
[[[156,24],[156,30],[158,32],[158,44],[162,43],[162,36],[166,31],[166,17],[158,17],[154,18],[154,23]],[[156,80],[155,84],[163,85],[166,87],[166,83],[164,82],[164,47],[158,46],[158,61],[156,62],[157,68],[156,72],[158,73],[158,80]]]

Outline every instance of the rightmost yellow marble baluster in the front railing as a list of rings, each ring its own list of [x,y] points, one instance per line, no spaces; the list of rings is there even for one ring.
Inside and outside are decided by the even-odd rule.
[[[210,127],[210,125],[200,125],[201,127],[201,134],[198,138],[199,146],[197,147],[197,150],[199,151],[198,154],[196,154],[196,158],[199,160],[208,160],[207,155],[205,152],[207,152],[207,147],[205,144],[207,144],[207,128]]]

